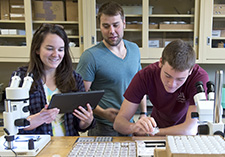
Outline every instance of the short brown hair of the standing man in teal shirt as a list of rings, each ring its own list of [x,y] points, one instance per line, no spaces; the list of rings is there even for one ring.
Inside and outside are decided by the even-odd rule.
[[[116,16],[120,15],[121,19],[124,20],[124,11],[123,8],[116,2],[109,1],[101,5],[98,11],[97,19],[100,23],[100,18],[102,14],[109,15],[109,16]]]

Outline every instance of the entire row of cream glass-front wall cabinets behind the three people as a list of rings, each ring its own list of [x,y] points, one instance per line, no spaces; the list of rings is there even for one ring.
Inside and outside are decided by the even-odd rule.
[[[72,0],[62,2],[66,5],[67,1]],[[163,48],[175,39],[183,39],[193,46],[197,63],[224,63],[224,48],[218,48],[218,44],[222,47],[222,43],[225,43],[225,14],[213,14],[215,5],[225,5],[222,0],[114,1],[120,3],[125,12],[124,38],[137,43],[142,63],[157,61]],[[2,62],[28,61],[33,32],[41,23],[63,25],[73,45],[71,52],[74,62],[79,61],[85,49],[102,40],[96,14],[105,0],[77,0],[74,10],[77,10],[78,15],[72,21],[67,18],[60,21],[35,20],[33,0],[23,2],[25,20],[0,20],[1,29],[12,28],[26,32],[20,35],[0,35]],[[218,31],[224,36],[215,36]]]

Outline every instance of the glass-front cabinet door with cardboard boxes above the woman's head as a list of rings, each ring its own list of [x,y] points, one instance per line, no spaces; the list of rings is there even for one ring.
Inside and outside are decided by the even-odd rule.
[[[81,0],[32,0],[31,5],[33,33],[42,23],[52,23],[63,27],[69,38],[73,60],[78,60],[83,51],[82,25],[80,24]]]

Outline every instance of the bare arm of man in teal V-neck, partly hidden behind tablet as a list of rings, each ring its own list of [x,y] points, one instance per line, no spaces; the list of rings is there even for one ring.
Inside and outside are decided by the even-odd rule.
[[[91,84],[92,84],[92,82],[84,80],[84,86],[85,86],[86,91],[88,91],[90,89]],[[105,118],[110,122],[114,122],[119,110],[117,110],[115,108],[103,109],[99,105],[97,105],[96,108],[93,110],[93,112],[95,115]]]

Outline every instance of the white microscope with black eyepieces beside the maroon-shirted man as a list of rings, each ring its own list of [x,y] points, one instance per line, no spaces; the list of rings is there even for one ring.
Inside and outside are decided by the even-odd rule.
[[[199,119],[198,134],[200,135],[221,135],[224,137],[224,123],[222,122],[223,108],[221,105],[223,71],[216,71],[216,86],[207,82],[207,97],[203,83],[197,82],[197,94],[194,101],[197,112],[191,114],[192,118]]]

